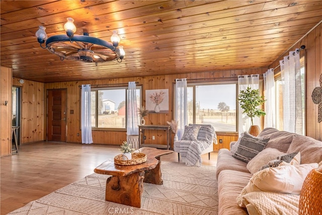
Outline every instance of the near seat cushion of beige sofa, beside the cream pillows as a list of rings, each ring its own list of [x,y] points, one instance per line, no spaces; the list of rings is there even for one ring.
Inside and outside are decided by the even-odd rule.
[[[218,214],[248,214],[246,208],[237,205],[236,197],[247,185],[251,177],[250,173],[234,170],[220,172],[218,176]]]

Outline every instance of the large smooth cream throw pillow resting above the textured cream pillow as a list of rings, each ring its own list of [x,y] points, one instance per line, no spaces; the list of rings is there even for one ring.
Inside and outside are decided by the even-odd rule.
[[[307,174],[317,167],[317,163],[312,163],[266,168],[252,176],[242,193],[266,191],[299,195]]]

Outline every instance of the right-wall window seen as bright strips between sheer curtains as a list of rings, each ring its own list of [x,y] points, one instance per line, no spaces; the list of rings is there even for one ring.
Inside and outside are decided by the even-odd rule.
[[[300,73],[301,73],[301,95],[302,95],[302,135],[305,135],[305,57],[300,58]],[[276,91],[276,129],[284,130],[283,128],[283,81],[281,76],[275,80]]]

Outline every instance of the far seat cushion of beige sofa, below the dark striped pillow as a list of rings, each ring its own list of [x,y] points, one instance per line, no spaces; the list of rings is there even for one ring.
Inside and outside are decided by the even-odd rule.
[[[247,164],[245,162],[233,158],[232,153],[229,150],[220,149],[217,157],[216,177],[218,179],[218,175],[222,170],[235,170],[250,174],[246,165]]]

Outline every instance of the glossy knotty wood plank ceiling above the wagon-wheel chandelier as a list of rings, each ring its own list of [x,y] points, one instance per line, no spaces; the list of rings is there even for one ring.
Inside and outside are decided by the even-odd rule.
[[[42,49],[35,32],[110,41],[125,58],[87,63]],[[1,65],[38,82],[114,79],[266,67],[322,20],[322,1],[1,1]]]

